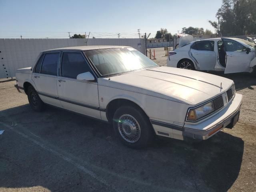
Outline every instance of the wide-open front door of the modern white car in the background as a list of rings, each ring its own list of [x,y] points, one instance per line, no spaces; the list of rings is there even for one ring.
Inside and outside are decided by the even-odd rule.
[[[252,52],[246,54],[246,47],[239,42],[222,38],[226,50],[225,73],[249,72]]]

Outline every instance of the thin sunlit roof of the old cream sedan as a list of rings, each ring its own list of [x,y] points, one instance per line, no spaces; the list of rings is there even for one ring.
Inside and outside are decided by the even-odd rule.
[[[111,49],[111,48],[128,48],[129,46],[116,46],[116,45],[94,45],[94,46],[75,46],[75,47],[62,47],[56,49],[49,49],[45,51],[56,51],[56,50],[96,50],[96,49]]]

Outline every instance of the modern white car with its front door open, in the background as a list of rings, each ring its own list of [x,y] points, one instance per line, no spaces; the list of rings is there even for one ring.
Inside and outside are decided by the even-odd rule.
[[[190,42],[170,51],[167,66],[190,70],[256,73],[256,45],[239,38]]]

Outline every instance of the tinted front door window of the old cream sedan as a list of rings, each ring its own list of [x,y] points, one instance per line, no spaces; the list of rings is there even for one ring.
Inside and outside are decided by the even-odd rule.
[[[63,52],[61,76],[76,79],[78,74],[90,71],[90,67],[80,52]]]

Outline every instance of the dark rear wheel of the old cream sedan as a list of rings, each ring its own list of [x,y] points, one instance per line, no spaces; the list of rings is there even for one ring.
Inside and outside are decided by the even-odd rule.
[[[45,108],[44,102],[40,99],[36,90],[32,87],[28,87],[28,102],[31,108],[36,112],[41,112]]]

